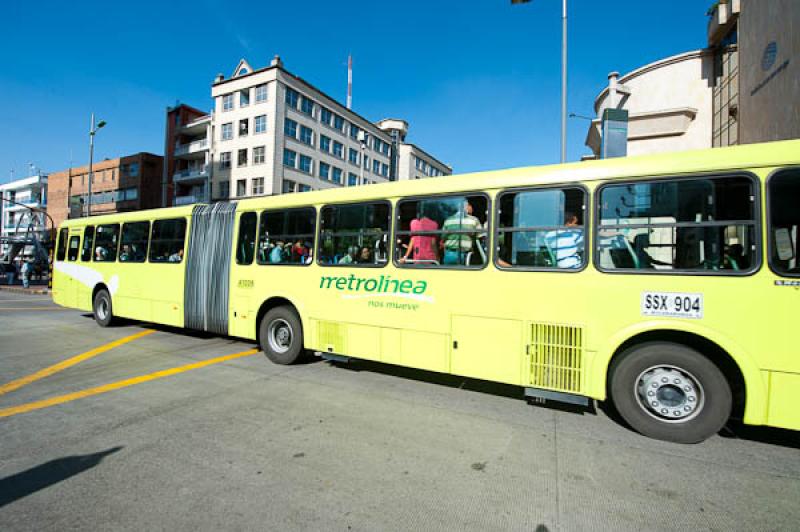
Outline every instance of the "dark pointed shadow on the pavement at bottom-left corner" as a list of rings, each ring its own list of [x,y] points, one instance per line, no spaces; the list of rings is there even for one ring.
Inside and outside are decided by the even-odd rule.
[[[0,508],[39,490],[48,488],[70,477],[83,473],[98,465],[106,456],[120,451],[122,447],[93,454],[67,456],[51,460],[27,471],[0,479]]]

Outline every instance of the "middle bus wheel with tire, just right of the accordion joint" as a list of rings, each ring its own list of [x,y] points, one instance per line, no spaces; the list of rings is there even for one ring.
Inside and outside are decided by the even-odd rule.
[[[303,324],[294,309],[270,309],[258,326],[261,350],[275,364],[288,365],[303,355]]]

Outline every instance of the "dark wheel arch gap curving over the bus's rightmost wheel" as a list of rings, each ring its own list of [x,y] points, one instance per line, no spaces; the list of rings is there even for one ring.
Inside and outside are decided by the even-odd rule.
[[[732,397],[730,418],[741,419],[744,416],[747,386],[739,364],[728,351],[717,343],[701,335],[687,331],[661,329],[640,332],[620,344],[614,351],[607,365],[605,377],[606,397],[613,400],[613,394],[611,393],[612,381],[614,378],[614,370],[620,361],[632,350],[652,344],[674,345],[688,348],[711,362],[716,369],[722,373],[730,387]]]

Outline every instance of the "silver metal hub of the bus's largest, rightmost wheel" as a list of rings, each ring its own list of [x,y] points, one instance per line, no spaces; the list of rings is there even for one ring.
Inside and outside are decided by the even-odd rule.
[[[684,423],[703,409],[703,387],[688,371],[675,366],[653,366],[636,379],[639,406],[650,416],[668,423]]]

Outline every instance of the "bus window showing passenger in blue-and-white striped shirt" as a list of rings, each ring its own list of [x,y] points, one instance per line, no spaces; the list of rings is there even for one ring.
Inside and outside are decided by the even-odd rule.
[[[567,270],[583,267],[586,260],[583,189],[505,192],[497,204],[497,266]]]

